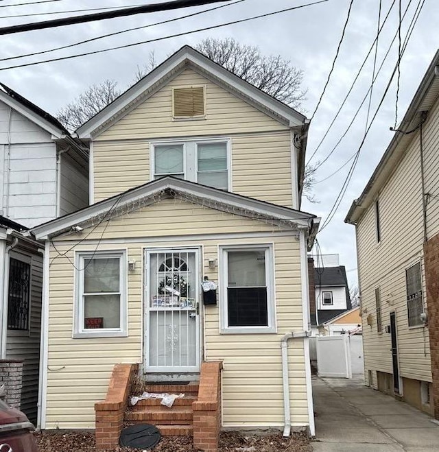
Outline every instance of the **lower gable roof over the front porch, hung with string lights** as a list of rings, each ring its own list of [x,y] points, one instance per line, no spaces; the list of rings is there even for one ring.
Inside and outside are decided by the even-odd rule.
[[[31,229],[37,239],[50,239],[60,235],[73,226],[87,227],[96,221],[103,221],[111,212],[111,218],[123,215],[129,208],[139,209],[154,204],[163,198],[179,198],[211,209],[250,216],[254,219],[269,219],[290,228],[306,229],[309,233],[309,246],[318,229],[320,218],[311,213],[296,211],[270,202],[255,200],[236,193],[206,187],[195,182],[165,176],[125,191],[112,198],[92,204],[80,211],[69,213],[50,222]]]

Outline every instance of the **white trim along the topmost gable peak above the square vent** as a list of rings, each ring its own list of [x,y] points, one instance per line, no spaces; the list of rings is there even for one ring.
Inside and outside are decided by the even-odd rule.
[[[172,71],[177,71],[187,63],[194,64],[200,67],[203,71],[210,73],[217,78],[219,82],[232,87],[238,93],[247,97],[249,100],[257,102],[263,109],[274,112],[278,117],[285,120],[290,127],[302,126],[307,121],[304,115],[294,110],[282,102],[274,99],[270,95],[263,93],[259,88],[252,86],[252,84],[242,80],[230,71],[227,71],[219,64],[213,62],[202,53],[196,51],[192,47],[185,45],[180,50],[176,51],[174,55],[170,56],[165,62],[160,64],[154,71],[146,75],[137,84],[134,84],[125,93],[117,97],[115,101],[109,104],[106,108],[101,110],[93,118],[84,123],[76,134],[80,138],[90,138],[91,134],[97,129],[104,126],[105,123],[118,116],[136,101],[138,97],[143,95],[145,91],[154,89],[154,86],[161,82],[161,80]]]

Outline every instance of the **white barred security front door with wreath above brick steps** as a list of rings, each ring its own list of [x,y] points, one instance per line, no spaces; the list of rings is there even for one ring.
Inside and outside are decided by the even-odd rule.
[[[145,372],[199,372],[199,250],[147,250],[145,260]]]

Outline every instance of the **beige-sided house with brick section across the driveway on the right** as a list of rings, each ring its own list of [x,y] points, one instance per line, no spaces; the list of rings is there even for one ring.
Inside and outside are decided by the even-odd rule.
[[[366,384],[439,417],[439,52],[346,222]]]

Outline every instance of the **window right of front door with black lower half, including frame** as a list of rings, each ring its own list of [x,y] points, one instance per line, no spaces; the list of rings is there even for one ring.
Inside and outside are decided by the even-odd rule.
[[[222,249],[222,332],[274,333],[271,246]]]

